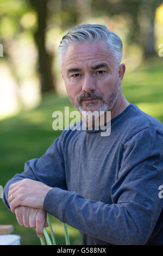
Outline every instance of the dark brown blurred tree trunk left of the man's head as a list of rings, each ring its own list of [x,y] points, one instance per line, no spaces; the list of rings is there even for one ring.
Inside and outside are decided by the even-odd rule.
[[[54,77],[52,75],[53,56],[46,51],[45,47],[47,2],[48,0],[30,0],[30,3],[37,11],[38,17],[38,29],[34,36],[39,52],[39,73],[42,93],[48,92],[49,90],[53,90],[54,92],[56,92]]]

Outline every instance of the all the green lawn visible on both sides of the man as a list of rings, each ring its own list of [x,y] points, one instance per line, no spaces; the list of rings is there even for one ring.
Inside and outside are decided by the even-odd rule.
[[[142,111],[151,114],[163,123],[163,57],[144,62],[139,69],[126,73],[123,78],[123,94],[130,103],[135,103]],[[52,129],[52,113],[63,111],[70,106],[68,97],[55,96],[52,93],[43,97],[40,106],[30,111],[23,111],[15,117],[0,121],[0,154],[1,180],[0,185],[16,173],[21,173],[24,162],[40,157],[53,143],[61,131]],[[59,220],[51,216],[51,222],[57,245],[65,245],[64,228]],[[14,225],[13,234],[21,236],[22,245],[40,245],[35,229],[18,225],[16,217],[8,211],[0,199],[0,224]],[[49,228],[47,228],[49,232]],[[71,245],[82,243],[79,231],[68,226]]]

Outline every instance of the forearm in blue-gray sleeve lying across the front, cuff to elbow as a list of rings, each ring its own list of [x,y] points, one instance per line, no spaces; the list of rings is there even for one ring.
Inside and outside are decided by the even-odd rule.
[[[135,215],[137,209],[137,212],[141,212],[139,216],[143,216],[141,206],[133,204],[132,207]],[[115,245],[145,244],[150,235],[149,218],[142,218],[141,223],[137,225],[127,208],[127,204],[109,205],[95,202],[76,192],[59,188],[49,191],[43,204],[43,209],[61,222],[97,239]]]

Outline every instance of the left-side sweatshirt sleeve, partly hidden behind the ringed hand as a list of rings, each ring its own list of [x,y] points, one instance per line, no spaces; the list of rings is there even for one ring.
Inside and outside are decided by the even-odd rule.
[[[61,137],[55,139],[51,147],[40,158],[32,159],[24,164],[24,171],[10,179],[3,190],[3,202],[10,210],[8,192],[11,184],[22,179],[41,181],[51,187],[67,189],[65,181],[65,164],[62,155]]]

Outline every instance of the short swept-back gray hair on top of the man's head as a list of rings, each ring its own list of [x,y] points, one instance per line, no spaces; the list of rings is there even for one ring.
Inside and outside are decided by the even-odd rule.
[[[122,61],[122,41],[115,33],[109,31],[107,27],[99,24],[82,24],[71,29],[62,37],[58,48],[60,66],[65,56],[67,46],[70,44],[82,44],[86,42],[99,42],[105,40],[117,65]]]

